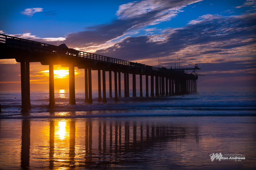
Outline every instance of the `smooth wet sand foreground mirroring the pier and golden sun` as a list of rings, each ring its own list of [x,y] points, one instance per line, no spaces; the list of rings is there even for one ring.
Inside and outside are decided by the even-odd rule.
[[[0,128],[3,170],[255,169],[248,116],[6,119]],[[246,159],[211,162],[217,152]]]

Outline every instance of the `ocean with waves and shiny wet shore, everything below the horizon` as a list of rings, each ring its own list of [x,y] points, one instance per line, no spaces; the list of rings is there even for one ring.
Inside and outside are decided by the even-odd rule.
[[[98,102],[93,90],[88,104],[76,90],[70,105],[69,91],[55,90],[49,109],[49,91],[30,91],[32,108],[22,114],[21,92],[0,91],[0,169],[256,168],[254,87],[118,102],[106,96]],[[213,153],[222,159],[211,161]]]

